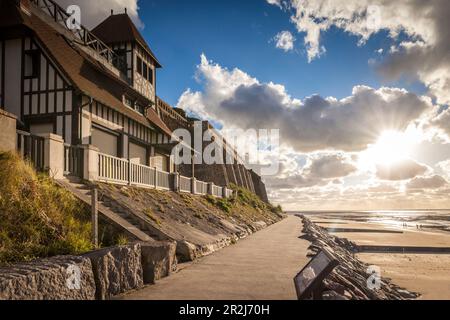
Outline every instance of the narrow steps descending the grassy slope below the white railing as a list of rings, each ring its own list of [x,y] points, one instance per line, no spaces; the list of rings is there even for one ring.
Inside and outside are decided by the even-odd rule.
[[[81,183],[72,182],[68,179],[57,180],[56,183],[62,188],[71,192],[77,199],[83,201],[88,206],[91,206],[91,195],[88,187]],[[139,224],[133,222],[133,220],[126,219],[120,213],[115,212],[113,209],[107,206],[103,201],[99,201],[98,206],[99,214],[105,217],[110,222],[114,223],[125,232],[139,241],[153,241],[154,239],[145,233],[139,227]]]

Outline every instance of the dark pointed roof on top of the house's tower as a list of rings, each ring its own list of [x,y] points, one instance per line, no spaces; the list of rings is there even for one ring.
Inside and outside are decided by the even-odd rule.
[[[106,44],[137,41],[155,60],[156,67],[161,68],[158,59],[128,14],[110,15],[95,27],[92,33]]]

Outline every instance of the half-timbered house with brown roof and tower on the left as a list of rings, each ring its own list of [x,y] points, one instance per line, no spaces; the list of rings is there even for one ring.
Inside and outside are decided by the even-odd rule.
[[[161,67],[129,16],[70,30],[52,0],[1,0],[0,107],[32,134],[172,172],[156,112]]]

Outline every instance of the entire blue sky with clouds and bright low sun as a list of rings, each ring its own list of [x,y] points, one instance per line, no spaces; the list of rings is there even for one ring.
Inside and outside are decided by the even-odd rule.
[[[449,1],[59,2],[89,27],[127,7],[173,106],[279,129],[286,210],[450,208]]]

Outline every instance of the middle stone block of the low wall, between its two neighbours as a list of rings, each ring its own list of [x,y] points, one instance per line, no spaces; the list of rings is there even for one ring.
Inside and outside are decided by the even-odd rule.
[[[94,251],[85,257],[92,262],[99,300],[144,286],[141,245],[138,243]]]

